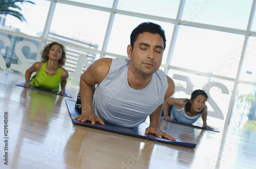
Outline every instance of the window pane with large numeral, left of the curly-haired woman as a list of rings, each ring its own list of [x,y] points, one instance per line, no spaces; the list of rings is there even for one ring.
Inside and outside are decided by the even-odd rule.
[[[0,33],[0,66],[23,72],[36,60],[39,41]]]

